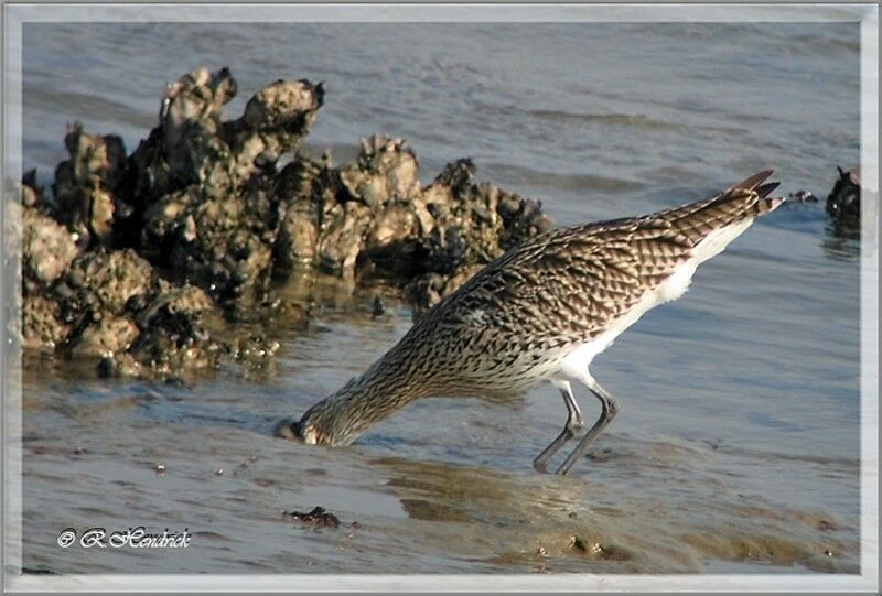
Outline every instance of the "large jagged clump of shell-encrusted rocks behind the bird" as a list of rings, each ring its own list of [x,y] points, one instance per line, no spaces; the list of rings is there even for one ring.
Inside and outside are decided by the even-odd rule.
[[[225,120],[237,90],[228,69],[195,69],[166,87],[129,158],[118,137],[74,124],[54,199],[24,181],[29,348],[100,358],[101,375],[180,376],[222,358],[266,370],[278,342],[226,324],[267,321],[283,302],[270,274],[304,283],[303,302],[376,275],[428,307],[550,226],[540,204],[476,183],[470,160],[422,187],[401,139],[364,139],[336,167],[302,152],[322,84],[277,80]]]

